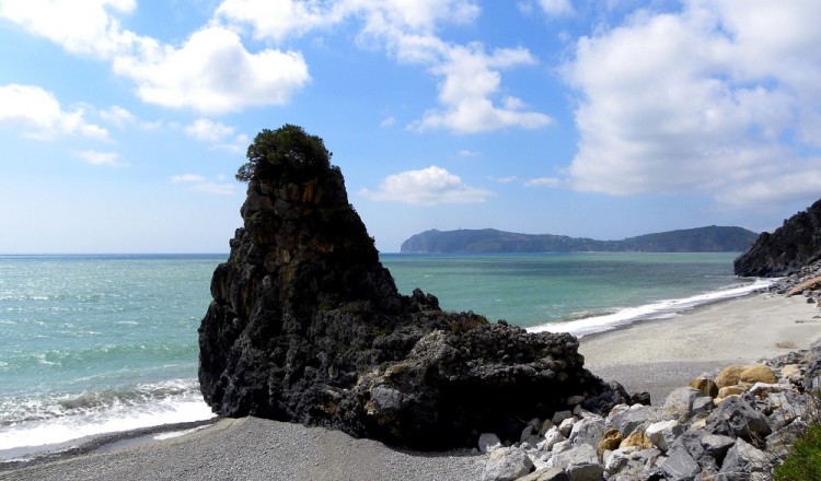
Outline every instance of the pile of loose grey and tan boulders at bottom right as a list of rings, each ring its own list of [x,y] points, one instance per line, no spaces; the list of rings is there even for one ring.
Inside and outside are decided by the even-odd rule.
[[[613,385],[611,383],[611,385]],[[483,481],[768,480],[818,419],[821,340],[752,366],[727,366],[662,407],[585,404],[532,420],[514,443],[483,434]]]

